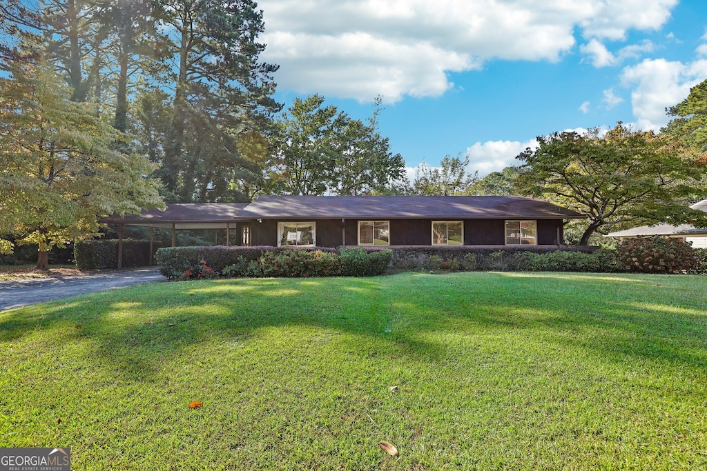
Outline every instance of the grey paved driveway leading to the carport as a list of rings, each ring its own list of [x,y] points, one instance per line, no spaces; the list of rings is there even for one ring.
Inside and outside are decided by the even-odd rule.
[[[0,282],[0,311],[164,280],[158,267],[146,267]]]

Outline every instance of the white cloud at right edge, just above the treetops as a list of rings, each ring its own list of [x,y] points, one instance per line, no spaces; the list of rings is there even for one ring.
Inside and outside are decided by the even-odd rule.
[[[689,64],[665,59],[644,59],[624,68],[621,83],[633,86],[631,105],[638,129],[658,131],[670,120],[665,108],[684,100],[690,88],[707,77],[707,59]]]

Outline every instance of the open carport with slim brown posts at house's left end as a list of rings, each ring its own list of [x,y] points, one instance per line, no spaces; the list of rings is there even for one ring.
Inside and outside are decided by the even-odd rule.
[[[166,210],[143,210],[141,214],[104,217],[100,222],[118,226],[118,270],[123,266],[123,227],[124,225],[150,228],[150,263],[153,253],[153,229],[155,227],[172,230],[172,246],[177,245],[179,229],[226,229],[226,246],[230,246],[230,230],[238,230],[238,240],[233,245],[250,244],[250,227],[237,222],[243,208],[249,203],[172,203]]]

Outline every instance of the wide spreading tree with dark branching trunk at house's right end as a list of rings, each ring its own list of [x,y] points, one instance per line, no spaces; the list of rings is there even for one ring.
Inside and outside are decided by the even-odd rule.
[[[627,224],[707,226],[707,214],[687,204],[699,192],[705,166],[671,136],[619,123],[604,136],[593,129],[537,139],[536,150],[517,157],[523,165],[516,187],[586,215],[580,244]]]

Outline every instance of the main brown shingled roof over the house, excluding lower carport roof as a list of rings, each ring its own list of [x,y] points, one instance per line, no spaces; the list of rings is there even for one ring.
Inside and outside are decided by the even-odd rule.
[[[522,196],[260,196],[239,219],[385,217],[581,218],[573,210]]]

